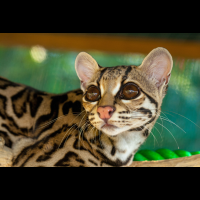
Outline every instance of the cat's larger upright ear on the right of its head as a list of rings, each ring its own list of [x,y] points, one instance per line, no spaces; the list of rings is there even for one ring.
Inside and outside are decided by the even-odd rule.
[[[165,48],[158,47],[153,49],[143,60],[141,68],[150,78],[156,80],[156,86],[159,88],[170,80],[173,67],[172,56]]]

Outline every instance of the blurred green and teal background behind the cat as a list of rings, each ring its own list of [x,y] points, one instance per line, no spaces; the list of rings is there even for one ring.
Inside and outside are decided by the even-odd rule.
[[[127,34],[132,36],[134,34]],[[137,36],[137,34],[136,34]],[[140,34],[158,37],[156,34]],[[159,35],[160,36],[160,35]],[[161,37],[161,36],[160,36]],[[162,38],[199,40],[200,35],[163,34]],[[105,67],[140,65],[144,54],[112,54],[87,51]],[[48,50],[41,46],[0,46],[0,76],[42,91],[64,93],[79,88],[74,69],[79,52]],[[168,93],[162,106],[161,119],[141,149],[200,150],[200,60],[174,59]],[[196,125],[195,125],[196,124]]]

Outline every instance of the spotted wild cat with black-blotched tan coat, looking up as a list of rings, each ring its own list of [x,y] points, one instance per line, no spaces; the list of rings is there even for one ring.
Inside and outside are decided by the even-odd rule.
[[[130,165],[160,115],[172,66],[161,47],[139,66],[102,67],[81,52],[81,89],[59,95],[0,78],[0,136],[12,166]]]

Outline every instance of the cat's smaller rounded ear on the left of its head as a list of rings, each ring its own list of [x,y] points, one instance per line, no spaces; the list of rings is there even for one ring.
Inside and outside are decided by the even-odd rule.
[[[75,60],[76,73],[81,81],[81,89],[85,90],[86,84],[99,70],[99,66],[94,58],[85,52],[78,54]]]

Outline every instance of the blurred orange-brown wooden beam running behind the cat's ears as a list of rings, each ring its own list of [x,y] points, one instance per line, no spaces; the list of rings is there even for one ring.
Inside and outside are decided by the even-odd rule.
[[[48,49],[142,54],[164,47],[173,57],[200,58],[199,42],[95,34],[0,33],[0,45],[42,45]]]

